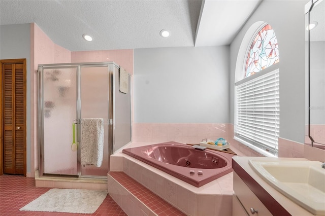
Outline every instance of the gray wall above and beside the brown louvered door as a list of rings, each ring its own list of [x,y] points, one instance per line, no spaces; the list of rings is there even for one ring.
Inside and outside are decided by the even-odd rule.
[[[26,107],[27,107],[27,173],[30,167],[30,24],[0,26],[0,59],[26,59]]]

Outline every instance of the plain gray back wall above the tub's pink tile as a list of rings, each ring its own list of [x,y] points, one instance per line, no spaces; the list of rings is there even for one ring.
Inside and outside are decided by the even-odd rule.
[[[229,83],[229,46],[135,49],[135,123],[228,123]]]

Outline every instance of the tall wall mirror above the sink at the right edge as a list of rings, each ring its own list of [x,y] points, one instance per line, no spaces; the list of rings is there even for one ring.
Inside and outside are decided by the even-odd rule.
[[[306,144],[325,149],[325,1],[306,5]]]

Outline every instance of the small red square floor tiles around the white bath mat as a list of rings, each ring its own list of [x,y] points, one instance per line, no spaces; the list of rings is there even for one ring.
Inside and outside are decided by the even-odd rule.
[[[0,215],[126,215],[108,195],[92,214],[19,211],[51,188],[35,187],[35,179],[20,175],[0,175]]]

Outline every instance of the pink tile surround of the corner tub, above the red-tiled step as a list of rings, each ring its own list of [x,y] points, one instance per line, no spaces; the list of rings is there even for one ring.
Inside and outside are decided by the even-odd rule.
[[[124,148],[154,143],[133,142]],[[197,188],[122,154],[122,150],[114,153],[110,160],[111,171],[123,171],[188,215],[232,215],[233,172]]]

